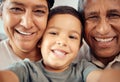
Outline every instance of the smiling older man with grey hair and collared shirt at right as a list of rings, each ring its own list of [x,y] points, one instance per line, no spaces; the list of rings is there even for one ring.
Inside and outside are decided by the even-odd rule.
[[[79,0],[83,15],[85,41],[81,58],[100,68],[120,63],[120,0]]]

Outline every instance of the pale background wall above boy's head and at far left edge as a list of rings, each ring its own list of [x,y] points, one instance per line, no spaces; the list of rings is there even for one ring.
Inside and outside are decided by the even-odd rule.
[[[58,5],[68,5],[77,9],[77,4],[78,0],[55,0],[55,4],[53,7],[56,7]],[[3,22],[1,22],[1,20],[0,20],[0,33],[4,33]]]

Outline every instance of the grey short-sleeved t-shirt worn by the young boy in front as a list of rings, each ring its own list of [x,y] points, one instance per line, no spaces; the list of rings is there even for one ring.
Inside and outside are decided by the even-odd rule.
[[[42,63],[42,60],[38,62],[24,60],[11,66],[9,70],[18,76],[20,82],[86,82],[90,72],[99,70],[86,60],[72,63],[68,69],[59,73],[46,70]]]

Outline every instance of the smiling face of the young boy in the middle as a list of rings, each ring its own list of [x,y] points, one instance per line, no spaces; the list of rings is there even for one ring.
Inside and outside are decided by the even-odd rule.
[[[49,20],[41,44],[48,70],[62,71],[75,59],[80,48],[81,28],[80,21],[69,14],[58,14]]]

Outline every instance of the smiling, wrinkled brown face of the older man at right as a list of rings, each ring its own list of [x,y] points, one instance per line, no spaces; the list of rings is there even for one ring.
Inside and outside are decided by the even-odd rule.
[[[86,41],[94,54],[111,57],[120,52],[120,0],[87,0]]]

